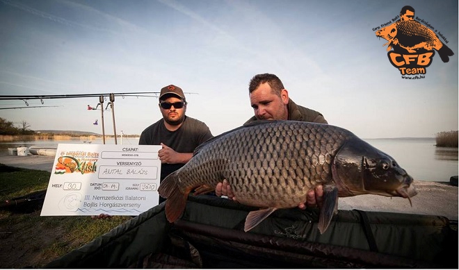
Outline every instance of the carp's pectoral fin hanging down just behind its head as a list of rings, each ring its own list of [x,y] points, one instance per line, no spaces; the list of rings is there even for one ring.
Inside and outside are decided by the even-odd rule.
[[[317,227],[321,234],[325,233],[333,214],[338,211],[338,188],[332,185],[323,185],[323,204],[321,214],[319,215],[319,223]]]

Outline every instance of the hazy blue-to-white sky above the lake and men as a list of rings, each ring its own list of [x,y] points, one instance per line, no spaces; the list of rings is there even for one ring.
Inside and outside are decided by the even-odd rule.
[[[401,78],[373,31],[405,5],[455,53],[447,63],[436,54],[419,80]],[[458,130],[456,0],[0,0],[0,51],[0,95],[159,92],[175,84],[193,93],[187,115],[214,135],[253,115],[248,83],[265,72],[281,78],[293,101],[362,138]],[[102,133],[100,110],[86,110],[97,103],[45,99],[56,107],[0,110],[0,117],[33,130]],[[140,134],[161,118],[157,103],[115,97],[117,132]],[[24,104],[0,101],[0,108]],[[113,134],[109,108],[104,120]]]

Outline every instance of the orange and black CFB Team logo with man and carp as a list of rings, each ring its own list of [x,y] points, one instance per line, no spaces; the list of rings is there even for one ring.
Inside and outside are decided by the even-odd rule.
[[[454,55],[445,44],[448,43],[446,37],[424,19],[414,17],[414,8],[411,6],[404,6],[399,16],[373,28],[375,30],[376,37],[387,40],[383,45],[387,45],[387,57],[400,71],[402,78],[425,78],[435,51],[443,62],[449,62],[449,56]]]

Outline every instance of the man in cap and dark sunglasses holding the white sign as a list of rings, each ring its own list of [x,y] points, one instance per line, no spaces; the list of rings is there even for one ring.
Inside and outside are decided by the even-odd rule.
[[[178,86],[168,85],[161,89],[159,110],[163,118],[143,130],[138,144],[162,146],[158,151],[162,181],[183,167],[193,156],[195,148],[213,135],[202,121],[185,115],[186,99]],[[165,200],[159,197],[159,203]]]

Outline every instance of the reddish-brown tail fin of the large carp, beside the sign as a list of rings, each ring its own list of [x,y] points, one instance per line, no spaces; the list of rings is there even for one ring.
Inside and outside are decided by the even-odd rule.
[[[166,198],[166,217],[170,223],[179,219],[185,210],[186,199],[191,189],[182,193],[177,185],[177,171],[169,174],[159,185],[159,196]]]

